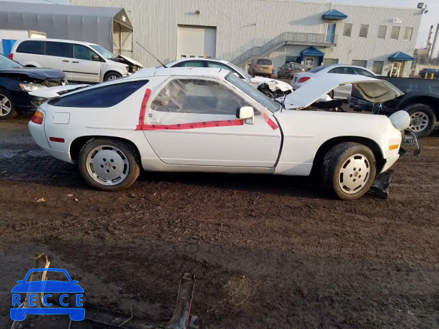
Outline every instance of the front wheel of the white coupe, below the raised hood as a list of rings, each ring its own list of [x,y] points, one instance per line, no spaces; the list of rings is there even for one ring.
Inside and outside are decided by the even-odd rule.
[[[325,154],[320,166],[320,180],[324,189],[343,200],[362,197],[376,174],[373,152],[365,145],[353,142],[335,145]]]

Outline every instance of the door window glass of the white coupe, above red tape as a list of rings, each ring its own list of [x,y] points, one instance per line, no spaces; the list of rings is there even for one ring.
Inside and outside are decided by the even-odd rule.
[[[236,115],[248,102],[218,82],[202,79],[171,80],[151,108],[158,112]]]

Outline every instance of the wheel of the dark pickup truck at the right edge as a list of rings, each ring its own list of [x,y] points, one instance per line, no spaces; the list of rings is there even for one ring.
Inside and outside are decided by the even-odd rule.
[[[429,106],[425,104],[412,104],[403,110],[410,114],[409,129],[416,134],[418,138],[428,136],[436,126],[436,114]]]

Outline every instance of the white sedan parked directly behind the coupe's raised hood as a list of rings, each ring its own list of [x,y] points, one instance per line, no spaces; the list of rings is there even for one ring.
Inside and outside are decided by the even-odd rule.
[[[321,79],[327,74],[342,74],[342,75],[364,75],[365,77],[377,77],[375,73],[364,69],[361,66],[354,65],[342,65],[342,64],[329,64],[317,66],[307,72],[296,73],[293,77],[291,85],[294,90],[305,86],[305,84],[313,81],[314,79]],[[330,97],[335,99],[347,99],[351,95],[352,85],[346,84],[335,88],[330,93]]]

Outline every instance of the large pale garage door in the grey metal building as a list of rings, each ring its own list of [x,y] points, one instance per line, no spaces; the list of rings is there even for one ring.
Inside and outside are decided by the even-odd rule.
[[[179,58],[215,58],[217,28],[211,26],[178,25]]]

